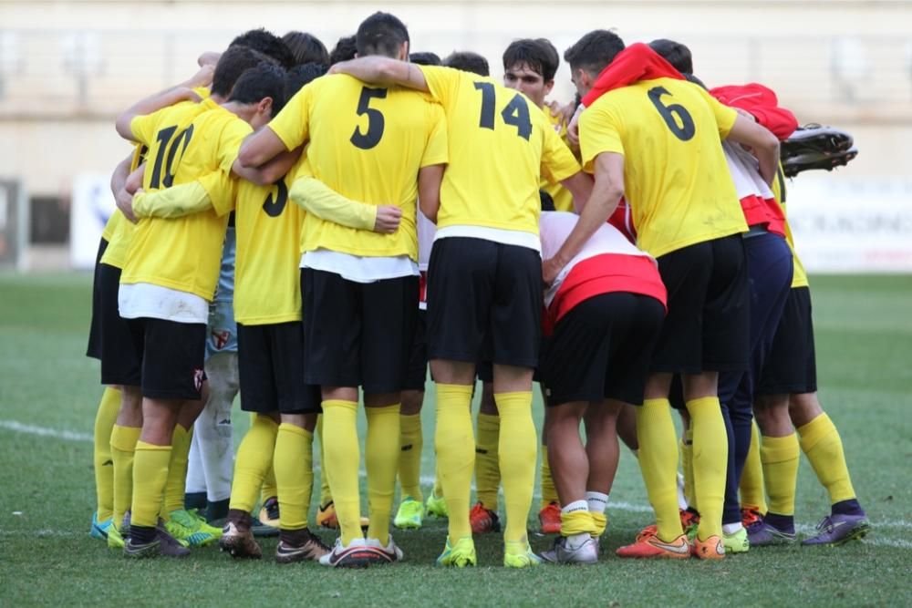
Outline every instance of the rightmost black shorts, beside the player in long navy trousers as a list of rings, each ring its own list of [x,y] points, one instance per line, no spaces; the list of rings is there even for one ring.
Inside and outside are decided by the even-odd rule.
[[[772,339],[772,349],[754,392],[760,395],[791,395],[814,393],[816,390],[811,290],[795,287],[785,301],[782,319]]]

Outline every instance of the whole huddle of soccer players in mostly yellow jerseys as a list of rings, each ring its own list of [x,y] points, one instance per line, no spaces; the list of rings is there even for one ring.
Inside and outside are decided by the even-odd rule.
[[[406,26],[377,13],[331,54],[247,32],[119,116],[135,149],[96,267],[92,536],[129,557],[218,541],[259,558],[256,536],[277,532],[278,562],[352,567],[402,560],[390,520],[435,515],[437,562],[462,567],[472,534],[501,530],[503,486],[504,566],[596,562],[618,437],[656,515],[621,557],[797,541],[800,449],[832,502],[803,542],[865,535],[816,399],[785,217],[795,118],[760,85],[707,89],[669,40],[595,30],[564,59],[579,97],[546,105],[560,57],[544,38],[507,47],[500,83],[476,54],[410,53]],[[238,391],[252,423],[235,456]],[[332,546],[308,528],[315,433]],[[557,537],[535,554],[539,443],[539,520]]]

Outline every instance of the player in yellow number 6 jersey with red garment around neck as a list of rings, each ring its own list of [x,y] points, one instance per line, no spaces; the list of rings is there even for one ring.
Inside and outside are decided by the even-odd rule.
[[[684,81],[648,46],[623,49],[617,35],[596,30],[565,53],[588,106],[579,125],[584,166],[595,170],[596,190],[603,175],[610,211],[626,196],[637,245],[658,260],[668,288],[668,316],[653,353],[646,398],[637,410],[640,469],[658,531],[617,552],[671,558],[691,552],[679,519],[678,450],[668,402],[671,379],[681,374],[694,428],[693,468],[702,514],[692,552],[720,559],[725,555],[721,515],[728,442],[718,377],[720,371],[746,369],[749,337],[741,242],[747,226],[720,139],[751,145],[767,181],[775,173],[778,140]],[[604,88],[590,89],[608,64],[611,68],[598,77],[608,92],[598,98]],[[545,279],[575,254],[571,240],[567,243],[569,251],[545,263]]]

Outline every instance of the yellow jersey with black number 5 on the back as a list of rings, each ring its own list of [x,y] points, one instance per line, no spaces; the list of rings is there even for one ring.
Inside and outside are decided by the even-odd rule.
[[[380,234],[306,213],[301,251],[418,260],[418,171],[448,160],[443,110],[408,88],[368,87],[334,75],[299,90],[269,125],[285,148],[310,141],[307,175],[353,201],[397,205],[399,230]]]

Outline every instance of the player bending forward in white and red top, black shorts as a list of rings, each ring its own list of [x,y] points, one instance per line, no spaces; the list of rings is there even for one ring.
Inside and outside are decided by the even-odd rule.
[[[586,205],[607,206],[604,199]],[[542,214],[545,259],[558,252],[578,220],[565,211]],[[599,528],[605,528],[594,515],[604,513],[617,470],[617,416],[625,403],[642,404],[651,347],[665,316],[665,285],[655,260],[603,223],[544,298],[553,328],[541,365],[545,429],[564,507],[561,536],[543,557],[593,563]],[[584,417],[586,448],[579,436]]]

